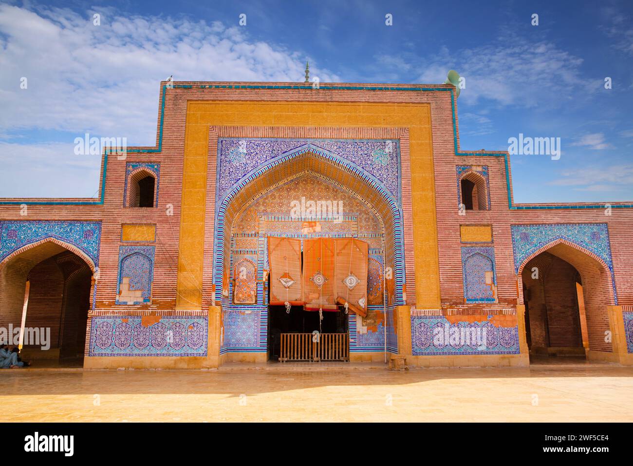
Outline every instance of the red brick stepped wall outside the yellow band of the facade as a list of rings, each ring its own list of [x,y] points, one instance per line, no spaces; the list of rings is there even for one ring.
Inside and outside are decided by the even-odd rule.
[[[182,84],[199,83],[184,82]],[[432,113],[442,306],[463,305],[460,224],[492,224],[494,238],[491,245],[495,248],[499,304],[514,306],[517,303],[518,292],[510,238],[511,224],[606,222],[610,231],[618,297],[621,304],[633,303],[633,277],[630,273],[633,270],[633,252],[630,248],[630,244],[633,243],[632,210],[613,209],[611,216],[605,216],[602,210],[509,210],[503,157],[455,155],[451,93],[449,92],[336,91],[326,89],[172,89],[166,93],[162,152],[128,153],[126,160],[117,160],[115,155],[111,155],[108,160],[106,194],[103,206],[30,206],[28,207],[27,217],[20,215],[19,205],[0,206],[0,219],[103,221],[99,260],[100,275],[96,292],[97,307],[101,309],[115,307],[118,248],[122,244],[120,242],[120,232],[123,223],[156,224],[157,241],[156,243],[149,243],[156,246],[152,293],[153,304],[151,306],[116,306],[116,310],[173,309],[175,306],[185,115],[187,101],[192,99],[429,103]],[[406,131],[406,129],[403,130]],[[457,131],[459,131],[459,127]],[[158,144],[158,131],[156,142]],[[403,141],[402,150],[407,149],[408,141]],[[134,161],[160,162],[158,207],[149,209],[123,207],[125,164],[126,162]],[[213,164],[215,164],[215,161],[210,160],[210,170]],[[491,210],[469,210],[466,216],[458,215],[456,165],[487,165],[489,167]],[[478,195],[481,194],[478,193]],[[403,181],[403,203],[405,209],[406,206],[410,208],[410,198],[410,184],[406,184]],[[173,216],[166,215],[168,204],[173,205]],[[412,212],[412,214],[415,215],[415,212]],[[405,215],[404,220],[406,263],[408,265],[407,282],[411,285],[413,283],[413,276],[410,276],[412,272],[410,267],[413,264],[412,226],[409,217]],[[208,222],[208,219],[206,221]],[[211,237],[211,232],[207,237]],[[206,251],[205,254],[210,253]],[[582,259],[579,259],[579,261],[582,262]],[[572,265],[582,275],[591,346],[600,347],[608,351],[610,345],[605,344],[601,332],[608,328],[603,307],[611,299],[609,287],[606,285],[610,279],[605,276],[604,271],[600,271],[595,267],[592,268],[591,262],[583,264],[573,263]],[[0,277],[0,285],[3,280],[6,280],[6,278]],[[204,290],[204,292],[205,294],[210,294],[209,289]],[[4,295],[1,290],[0,294]],[[14,298],[16,302],[22,301],[22,297],[2,297],[5,301],[11,301]],[[415,304],[415,294],[412,291],[408,293],[408,298],[408,304]],[[9,305],[8,307],[13,309],[15,306]]]

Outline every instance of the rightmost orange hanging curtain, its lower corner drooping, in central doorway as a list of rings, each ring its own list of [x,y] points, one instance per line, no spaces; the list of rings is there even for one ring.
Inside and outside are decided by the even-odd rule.
[[[337,238],[335,275],[336,298],[349,310],[367,315],[367,269],[369,245],[354,238]]]

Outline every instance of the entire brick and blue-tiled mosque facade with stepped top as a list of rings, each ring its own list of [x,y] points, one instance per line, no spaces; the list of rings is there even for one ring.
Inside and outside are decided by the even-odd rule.
[[[87,368],[263,362],[266,238],[355,238],[368,294],[331,322],[351,361],[633,363],[633,205],[514,204],[508,153],[460,149],[454,87],[163,82],[159,102],[156,146],[106,150],[98,199],[0,200],[3,327],[26,302]]]

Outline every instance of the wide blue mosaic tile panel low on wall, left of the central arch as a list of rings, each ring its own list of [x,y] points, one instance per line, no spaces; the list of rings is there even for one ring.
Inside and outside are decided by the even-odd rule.
[[[163,316],[145,326],[140,316],[92,318],[89,356],[206,356],[208,318]]]

